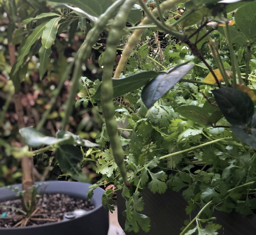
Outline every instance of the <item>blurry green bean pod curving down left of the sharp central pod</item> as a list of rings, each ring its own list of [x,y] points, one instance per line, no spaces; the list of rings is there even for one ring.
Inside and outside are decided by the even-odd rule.
[[[79,83],[79,79],[82,74],[82,62],[85,59],[88,59],[93,45],[98,40],[99,34],[103,31],[105,26],[108,23],[108,20],[112,18],[113,14],[116,10],[124,3],[125,0],[117,0],[115,1],[103,14],[101,14],[98,20],[95,22],[94,27],[88,32],[85,41],[81,45],[78,50],[77,58],[75,58],[75,68],[73,72],[73,76],[71,79],[72,86],[70,89],[70,93],[68,99],[65,103],[66,114],[62,119],[61,128],[65,129],[66,124],[68,123],[68,118],[72,114],[73,106],[75,103],[75,97],[77,92],[77,86]]]

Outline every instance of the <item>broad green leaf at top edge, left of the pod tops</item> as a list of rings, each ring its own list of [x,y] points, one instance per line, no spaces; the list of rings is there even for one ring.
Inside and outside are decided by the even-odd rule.
[[[79,7],[92,16],[100,16],[113,3],[112,0],[52,0],[52,2],[66,3]]]

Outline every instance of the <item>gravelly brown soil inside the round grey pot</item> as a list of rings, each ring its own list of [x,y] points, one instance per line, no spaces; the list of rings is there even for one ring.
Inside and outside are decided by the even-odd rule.
[[[2,207],[7,206],[7,207]],[[19,223],[25,217],[15,210],[22,209],[21,200],[12,200],[0,202],[0,227],[19,227]],[[38,224],[46,224],[61,221],[65,212],[71,212],[76,209],[84,209],[86,211],[94,208],[91,201],[80,198],[72,198],[68,195],[44,194],[38,201],[35,215],[30,218],[26,226],[33,226]]]

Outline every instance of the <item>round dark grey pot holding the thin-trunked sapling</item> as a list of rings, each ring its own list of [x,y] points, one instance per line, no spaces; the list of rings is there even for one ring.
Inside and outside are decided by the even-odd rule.
[[[46,194],[66,194],[76,198],[84,198],[90,184],[70,181],[46,181]],[[14,185],[21,187],[21,185]],[[43,188],[45,185],[42,186]],[[41,188],[42,189],[42,188]],[[40,187],[38,188],[40,191]],[[104,190],[96,188],[92,197],[94,209],[87,211],[81,217],[67,219],[51,224],[28,226],[23,228],[0,228],[1,235],[107,235],[108,210],[101,204]],[[0,202],[15,199],[15,193],[10,189],[0,188]]]

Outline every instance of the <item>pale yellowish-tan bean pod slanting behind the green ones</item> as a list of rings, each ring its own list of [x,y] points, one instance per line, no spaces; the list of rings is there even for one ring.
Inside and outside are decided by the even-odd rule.
[[[163,13],[164,11],[172,9],[176,4],[179,4],[181,2],[182,2],[181,0],[167,0],[167,1],[165,1],[162,4],[159,5],[160,11]],[[157,8],[155,8],[151,13],[154,17],[158,17]],[[148,24],[151,24],[151,23],[152,23],[151,19],[149,17],[145,17],[140,22],[139,26],[148,25]],[[120,74],[123,71],[123,68],[124,68],[124,65],[125,65],[126,61],[128,60],[129,56],[132,53],[133,48],[138,43],[138,41],[140,40],[141,35],[144,33],[145,30],[146,30],[145,28],[140,28],[140,29],[134,30],[131,37],[128,39],[128,41],[127,41],[127,43],[124,47],[124,50],[122,52],[122,56],[121,56],[121,58],[118,62],[118,65],[116,67],[114,78],[119,78],[120,77]]]

